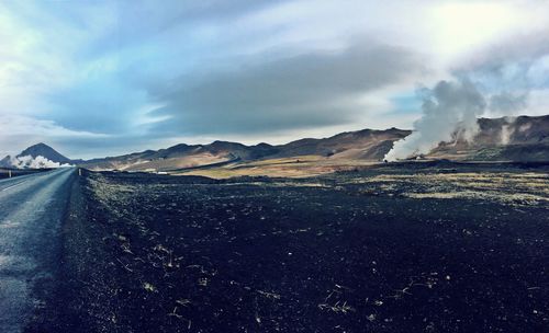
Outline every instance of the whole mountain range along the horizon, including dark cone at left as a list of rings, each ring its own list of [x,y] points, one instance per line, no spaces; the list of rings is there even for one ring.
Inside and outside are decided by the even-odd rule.
[[[473,140],[456,136],[440,142],[425,159],[471,161],[549,161],[549,115],[515,118],[479,118]],[[314,139],[305,138],[285,145],[214,141],[210,145],[180,143],[160,150],[145,150],[119,157],[71,160],[45,143],[29,147],[15,158],[0,160],[3,168],[55,168],[79,165],[90,170],[126,170],[179,172],[224,165],[246,165],[267,160],[310,159],[323,161],[379,162],[393,143],[412,131],[390,128],[363,129]]]

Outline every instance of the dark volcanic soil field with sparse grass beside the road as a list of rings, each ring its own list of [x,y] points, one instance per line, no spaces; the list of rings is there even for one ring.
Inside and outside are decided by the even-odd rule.
[[[86,173],[41,332],[547,332],[547,170],[460,168]]]

